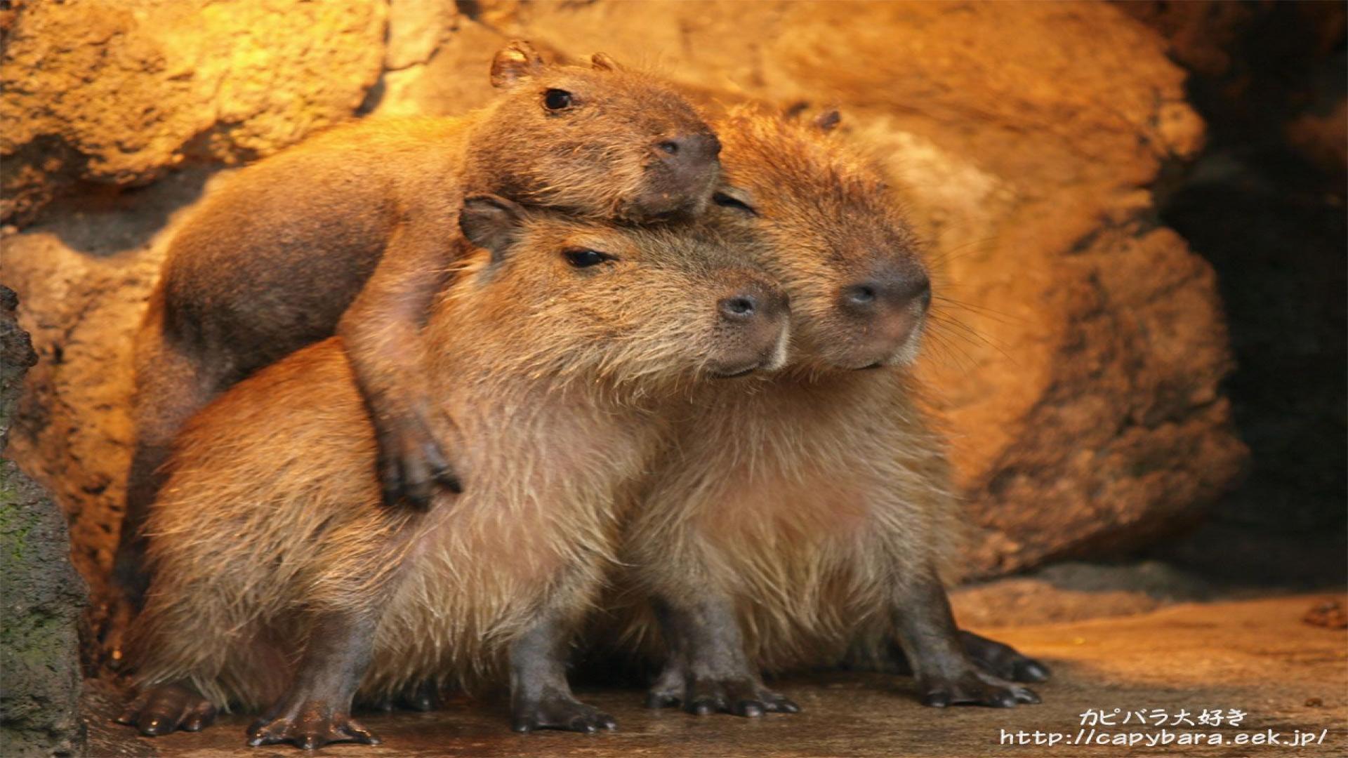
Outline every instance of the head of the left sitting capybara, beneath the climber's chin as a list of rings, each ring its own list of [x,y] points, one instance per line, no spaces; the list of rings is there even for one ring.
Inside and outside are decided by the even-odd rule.
[[[786,295],[690,225],[586,223],[479,194],[460,228],[488,254],[446,297],[472,298],[503,372],[646,386],[786,360]]]

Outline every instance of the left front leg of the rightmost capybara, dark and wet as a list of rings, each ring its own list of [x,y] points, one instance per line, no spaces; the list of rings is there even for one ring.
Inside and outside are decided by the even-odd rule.
[[[656,602],[656,614],[673,654],[647,696],[648,705],[682,704],[685,711],[700,716],[749,718],[801,709],[763,685],[758,669],[744,654],[739,620],[729,600],[702,599],[686,607]]]

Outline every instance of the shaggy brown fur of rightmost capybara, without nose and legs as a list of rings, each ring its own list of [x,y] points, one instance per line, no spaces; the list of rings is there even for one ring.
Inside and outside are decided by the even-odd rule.
[[[663,657],[646,596],[720,597],[759,668],[836,664],[855,641],[894,641],[903,588],[931,581],[957,534],[944,442],[909,375],[921,316],[905,343],[882,345],[837,305],[878,270],[926,274],[864,155],[816,124],[748,109],[717,131],[727,187],[714,221],[760,240],[748,250],[791,298],[791,363],[705,387],[685,410],[624,540],[624,645]]]

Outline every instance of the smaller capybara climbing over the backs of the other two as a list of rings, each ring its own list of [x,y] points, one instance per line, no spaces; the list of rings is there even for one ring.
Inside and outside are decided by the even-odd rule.
[[[705,208],[720,144],[659,80],[597,54],[545,65],[496,54],[488,107],[371,119],[232,177],[179,231],[136,339],[136,448],[116,579],[139,606],[142,523],[174,434],[216,394],[306,344],[342,336],[376,428],[386,502],[460,487],[410,356],[464,248],[468,193],[643,223]]]

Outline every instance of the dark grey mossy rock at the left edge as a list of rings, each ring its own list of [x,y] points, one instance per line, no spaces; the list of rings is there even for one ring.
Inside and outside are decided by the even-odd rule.
[[[0,438],[36,353],[0,286]],[[71,755],[84,747],[78,623],[86,603],[61,510],[0,459],[0,754]]]

